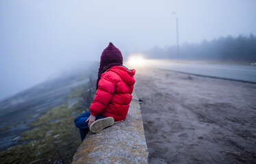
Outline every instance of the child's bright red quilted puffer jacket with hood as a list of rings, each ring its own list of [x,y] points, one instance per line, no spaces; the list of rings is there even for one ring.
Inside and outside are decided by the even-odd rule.
[[[96,96],[90,105],[94,116],[113,117],[115,121],[125,120],[131,102],[136,70],[125,66],[112,66],[101,74]]]

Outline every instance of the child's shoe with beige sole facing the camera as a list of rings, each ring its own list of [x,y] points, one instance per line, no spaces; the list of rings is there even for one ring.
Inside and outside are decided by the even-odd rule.
[[[89,128],[91,132],[97,133],[102,131],[103,128],[106,128],[107,126],[112,126],[112,124],[114,124],[114,118],[108,117],[92,122]]]

